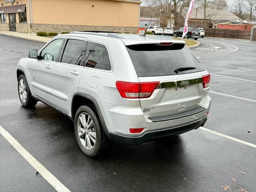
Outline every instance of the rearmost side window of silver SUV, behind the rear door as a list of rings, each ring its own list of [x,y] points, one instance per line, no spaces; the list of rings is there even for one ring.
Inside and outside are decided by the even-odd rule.
[[[110,71],[111,64],[106,46],[88,42],[85,66]]]

